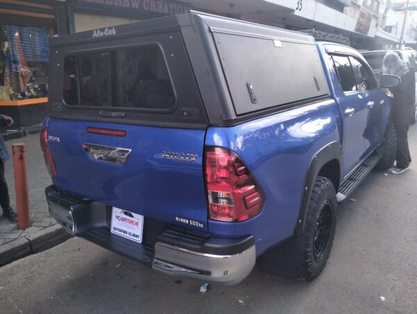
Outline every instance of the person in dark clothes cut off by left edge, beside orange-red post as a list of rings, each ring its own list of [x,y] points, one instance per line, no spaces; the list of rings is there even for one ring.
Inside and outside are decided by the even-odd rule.
[[[12,126],[13,119],[7,115],[0,114],[0,126]],[[17,221],[17,213],[10,207],[10,197],[8,195],[8,186],[4,177],[4,163],[10,158],[6,143],[0,135],[0,206],[3,208],[3,217],[8,218],[12,222]]]

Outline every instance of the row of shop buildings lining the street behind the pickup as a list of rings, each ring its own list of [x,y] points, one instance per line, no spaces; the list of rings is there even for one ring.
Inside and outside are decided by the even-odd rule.
[[[27,108],[28,111],[37,102],[42,105],[34,108],[46,106],[47,45],[48,38],[52,35],[87,31],[198,10],[294,31],[314,30],[314,33],[341,35],[348,38],[350,45],[356,49],[381,49],[389,45],[395,47],[400,40],[401,15],[404,16],[404,13],[393,10],[391,2],[389,0],[0,0],[0,39],[2,40],[0,109],[4,113],[8,104],[12,104],[10,101],[19,104],[10,107],[13,108],[13,113],[16,111],[15,117],[22,116],[22,123],[18,126],[30,126],[42,120],[37,118],[36,121],[24,121],[24,114],[19,112],[23,108]],[[414,13],[409,15],[405,32],[407,45],[415,42],[417,33],[417,18],[414,18]],[[30,85],[31,83],[38,83],[37,90],[31,89],[33,86]],[[40,98],[43,98],[43,102]]]

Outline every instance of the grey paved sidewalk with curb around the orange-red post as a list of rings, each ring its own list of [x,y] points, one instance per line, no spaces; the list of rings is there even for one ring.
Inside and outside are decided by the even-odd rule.
[[[67,233],[49,216],[44,189],[51,184],[51,177],[44,165],[40,149],[39,134],[6,142],[11,155],[12,144],[26,144],[26,160],[28,171],[29,208],[31,226],[26,230],[17,229],[17,223],[3,218],[0,213],[0,267],[29,254],[52,247],[66,240]],[[6,181],[8,183],[10,205],[16,210],[15,181],[13,178],[13,161],[8,160]]]

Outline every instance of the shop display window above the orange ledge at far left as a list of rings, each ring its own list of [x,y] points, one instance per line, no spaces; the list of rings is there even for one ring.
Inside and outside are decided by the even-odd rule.
[[[0,25],[0,100],[47,96],[48,35],[45,28]]]

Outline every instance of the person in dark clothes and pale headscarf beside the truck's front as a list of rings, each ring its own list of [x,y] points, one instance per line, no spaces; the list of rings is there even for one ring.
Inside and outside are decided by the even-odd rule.
[[[416,101],[416,78],[414,69],[410,69],[404,64],[400,56],[394,51],[389,51],[384,56],[384,74],[400,76],[401,83],[397,88],[393,88],[393,122],[397,133],[397,155],[395,166],[391,168],[392,174],[402,174],[409,169],[411,156],[407,133],[411,124],[413,105]]]

